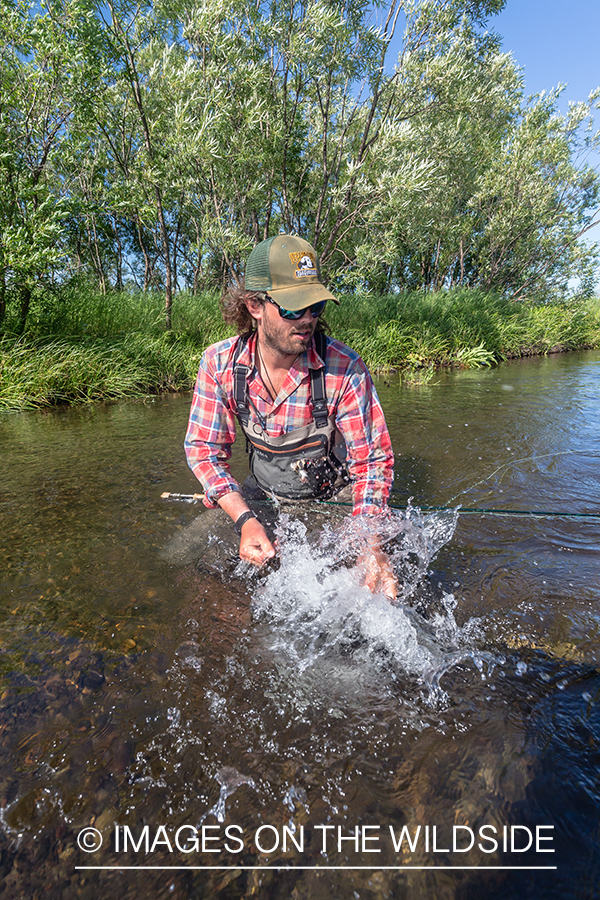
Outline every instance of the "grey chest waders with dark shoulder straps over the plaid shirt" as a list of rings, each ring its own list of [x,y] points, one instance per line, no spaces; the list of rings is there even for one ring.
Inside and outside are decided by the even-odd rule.
[[[247,378],[252,369],[240,365],[247,338],[240,338],[233,358],[234,412],[246,436],[250,471],[266,493],[286,500],[327,500],[348,484],[350,477],[344,463],[346,445],[328,415],[325,393],[325,366],[310,370],[313,420],[302,428],[271,437],[266,419],[248,396]],[[315,345],[321,359],[327,352],[327,338],[315,334]]]

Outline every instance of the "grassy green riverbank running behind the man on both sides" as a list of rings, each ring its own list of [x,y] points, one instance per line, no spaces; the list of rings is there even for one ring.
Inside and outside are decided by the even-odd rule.
[[[180,295],[173,330],[160,294],[78,291],[40,304],[26,334],[0,340],[0,409],[140,397],[192,388],[202,351],[231,334],[216,295]],[[372,371],[427,380],[436,368],[600,348],[600,301],[532,305],[482,291],[344,297],[332,334]]]

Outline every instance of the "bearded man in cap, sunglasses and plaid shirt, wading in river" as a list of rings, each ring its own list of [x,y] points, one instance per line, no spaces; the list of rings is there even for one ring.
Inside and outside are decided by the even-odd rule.
[[[240,557],[256,566],[276,550],[247,499],[326,500],[349,484],[354,516],[387,510],[390,436],[365,364],[326,337],[319,317],[328,300],[339,303],[321,281],[310,244],[286,234],[262,241],[248,258],[245,284],[222,300],[238,336],[213,344],[200,362],[185,440],[188,463],[205,505],[231,517]],[[252,472],[243,490],[228,465],[236,422]],[[371,591],[396,596],[390,560],[376,537],[361,563]]]

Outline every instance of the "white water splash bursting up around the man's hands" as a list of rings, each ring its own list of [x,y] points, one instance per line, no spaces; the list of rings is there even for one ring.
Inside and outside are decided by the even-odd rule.
[[[476,620],[458,626],[454,595],[435,603],[431,597],[437,611],[427,617],[411,607],[423,593],[433,557],[452,538],[457,515],[423,516],[409,507],[402,514],[350,517],[311,534],[282,513],[279,568],[253,592],[253,612],[267,626],[262,639],[270,654],[295,679],[318,669],[321,679],[339,681],[349,665],[352,681],[357,666],[387,668],[416,676],[437,699],[443,695],[440,678],[459,662],[472,660],[485,677],[493,660],[477,650]],[[398,576],[394,603],[363,584],[360,555],[373,539],[385,547]]]

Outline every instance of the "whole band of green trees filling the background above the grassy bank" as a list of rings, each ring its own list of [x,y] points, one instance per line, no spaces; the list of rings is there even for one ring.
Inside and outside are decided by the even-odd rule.
[[[280,229],[340,291],[590,296],[600,95],[526,100],[502,6],[0,0],[0,327],[91,279],[169,328]]]

